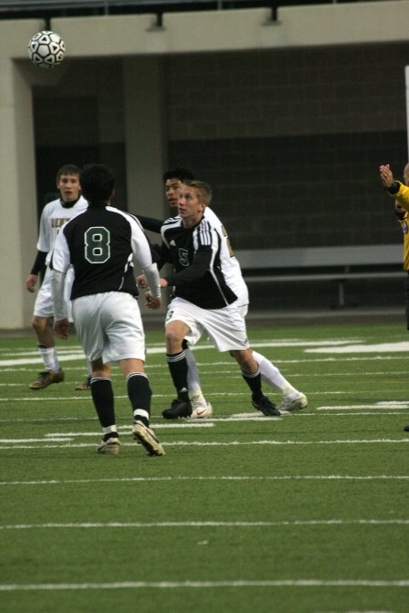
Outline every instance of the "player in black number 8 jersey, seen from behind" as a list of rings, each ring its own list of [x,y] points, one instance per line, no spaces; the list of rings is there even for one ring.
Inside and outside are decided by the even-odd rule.
[[[103,164],[90,164],[81,173],[80,183],[89,206],[62,227],[51,262],[55,333],[67,338],[63,292],[65,273],[72,263],[73,319],[85,355],[91,361],[91,393],[103,429],[97,451],[117,454],[120,448],[110,366],[117,361],[132,404],[134,439],[144,445],[149,455],[165,455],[149,427],[152,391],[144,369],[145,334],[134,276],[137,262],[151,290],[149,307],[158,309],[161,290],[157,266],[152,262],[140,223],[133,215],[110,206],[115,193],[112,170]]]

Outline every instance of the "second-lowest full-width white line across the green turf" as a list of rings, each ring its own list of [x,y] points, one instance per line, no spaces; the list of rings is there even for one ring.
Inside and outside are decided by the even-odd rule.
[[[294,526],[405,526],[409,519],[294,519],[290,521],[78,521],[0,524],[0,530],[107,528],[276,528]]]

